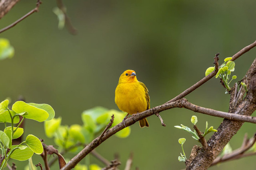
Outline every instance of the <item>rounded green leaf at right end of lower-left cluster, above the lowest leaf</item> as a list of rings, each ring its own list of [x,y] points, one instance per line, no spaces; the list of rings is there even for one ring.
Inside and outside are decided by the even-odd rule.
[[[28,135],[26,137],[26,144],[36,154],[41,154],[44,151],[41,141],[34,135]]]

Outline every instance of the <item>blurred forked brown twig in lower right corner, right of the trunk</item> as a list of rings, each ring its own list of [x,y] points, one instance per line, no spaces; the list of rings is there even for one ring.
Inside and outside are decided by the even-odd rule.
[[[245,156],[251,156],[256,154],[256,152],[244,153],[251,147],[253,147],[254,143],[256,142],[256,134],[250,140],[247,139],[247,135],[244,137],[244,141],[242,146],[239,149],[233,150],[233,152],[229,154],[225,154],[224,156],[218,156],[213,162],[211,166],[214,166],[220,162],[226,162],[228,160],[234,160]]]

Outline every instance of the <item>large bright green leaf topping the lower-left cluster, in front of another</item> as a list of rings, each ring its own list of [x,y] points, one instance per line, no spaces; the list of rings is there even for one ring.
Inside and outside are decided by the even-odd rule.
[[[12,105],[12,110],[16,111],[17,113],[22,113],[26,111],[28,115],[24,115],[23,117],[27,119],[33,119],[39,122],[45,121],[49,117],[49,114],[44,109],[40,109],[35,106],[26,104],[23,101],[15,102]]]

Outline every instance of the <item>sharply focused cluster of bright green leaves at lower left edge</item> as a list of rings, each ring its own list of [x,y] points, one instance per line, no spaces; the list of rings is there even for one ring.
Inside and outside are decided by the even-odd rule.
[[[26,141],[23,141],[20,145],[12,145],[12,139],[20,137],[24,132],[23,128],[19,127],[22,121],[27,118],[41,122],[52,119],[55,115],[52,107],[47,104],[27,104],[18,101],[12,105],[12,110],[8,108],[8,104],[9,100],[0,103],[0,119],[1,123],[5,125],[4,131],[0,131],[0,147],[4,158],[0,170],[6,166],[10,158],[23,161],[31,158],[34,153],[41,154],[43,152],[41,141],[34,135],[28,135]],[[19,116],[23,117],[20,123]],[[10,123],[11,126],[7,126],[7,123]],[[14,127],[16,123],[19,124]],[[8,149],[10,151],[6,154]]]

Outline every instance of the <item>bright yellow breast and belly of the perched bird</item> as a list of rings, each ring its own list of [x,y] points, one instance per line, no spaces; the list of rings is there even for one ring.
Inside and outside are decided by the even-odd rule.
[[[116,87],[115,102],[118,108],[130,115],[148,108],[145,88],[141,82],[120,83]]]

